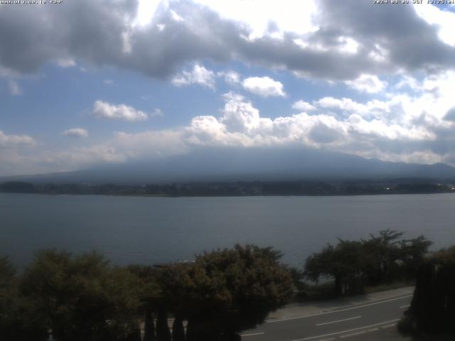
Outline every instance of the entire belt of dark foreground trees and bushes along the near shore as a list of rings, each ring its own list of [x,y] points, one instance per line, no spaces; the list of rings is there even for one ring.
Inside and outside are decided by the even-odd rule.
[[[416,278],[401,329],[449,328],[419,320],[429,310],[444,321],[453,318],[453,302],[447,305],[446,297],[454,297],[454,247],[431,253],[432,242],[424,236],[402,235],[385,229],[368,239],[338,239],[300,269],[280,263],[280,251],[252,244],[156,266],[115,266],[95,251],[45,249],[17,271],[0,255],[0,335],[17,341],[46,340],[49,333],[58,341],[139,341],[142,332],[144,341],[237,341],[238,332],[264,323],[287,303],[385,290]],[[444,283],[437,281],[447,278],[452,279],[441,291]],[[428,297],[445,303],[435,305]]]

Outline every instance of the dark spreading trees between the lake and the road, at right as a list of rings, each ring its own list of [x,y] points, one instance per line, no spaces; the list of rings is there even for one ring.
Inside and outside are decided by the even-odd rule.
[[[334,279],[334,293],[362,291],[398,278],[415,278],[432,242],[424,236],[402,239],[403,232],[382,230],[369,239],[338,239],[306,259],[304,275],[310,281]]]

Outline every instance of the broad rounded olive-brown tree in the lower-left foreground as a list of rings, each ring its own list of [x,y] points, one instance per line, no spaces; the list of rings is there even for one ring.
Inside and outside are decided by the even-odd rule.
[[[95,252],[73,256],[45,250],[36,255],[21,281],[30,303],[28,316],[55,339],[122,340],[137,329],[138,278],[109,266]]]

